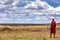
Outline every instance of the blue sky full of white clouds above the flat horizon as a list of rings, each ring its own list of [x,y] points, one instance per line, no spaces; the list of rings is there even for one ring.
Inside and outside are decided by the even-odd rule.
[[[0,24],[60,23],[60,0],[0,0]]]

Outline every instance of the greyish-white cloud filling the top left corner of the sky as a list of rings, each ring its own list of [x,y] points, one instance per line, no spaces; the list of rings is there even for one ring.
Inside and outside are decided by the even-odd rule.
[[[14,7],[19,3],[19,0],[0,0],[0,9]]]

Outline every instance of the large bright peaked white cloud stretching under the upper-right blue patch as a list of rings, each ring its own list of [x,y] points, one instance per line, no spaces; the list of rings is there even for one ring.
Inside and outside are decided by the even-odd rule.
[[[36,0],[35,2],[31,2],[29,4],[27,4],[24,8],[29,8],[29,9],[34,9],[34,10],[40,10],[43,13],[60,13],[60,6],[59,7],[52,7],[50,6],[47,2],[42,2],[40,0]]]

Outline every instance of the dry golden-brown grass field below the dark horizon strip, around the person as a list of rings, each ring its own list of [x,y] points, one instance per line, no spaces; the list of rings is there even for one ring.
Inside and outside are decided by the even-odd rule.
[[[60,24],[56,38],[50,38],[50,25],[0,25],[0,40],[60,40]]]

